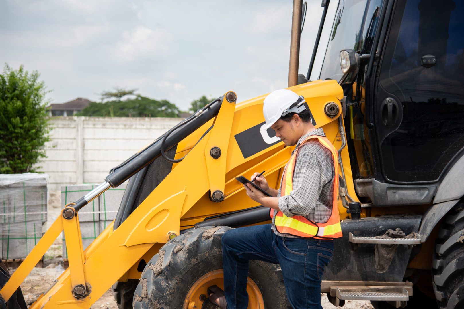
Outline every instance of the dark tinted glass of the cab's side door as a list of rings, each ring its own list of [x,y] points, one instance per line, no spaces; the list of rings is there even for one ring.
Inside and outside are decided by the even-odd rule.
[[[380,128],[384,176],[437,180],[464,147],[464,1],[399,1],[381,63],[379,103],[392,96],[403,118]],[[400,7],[403,6],[403,7]],[[422,66],[433,55],[436,64]]]

